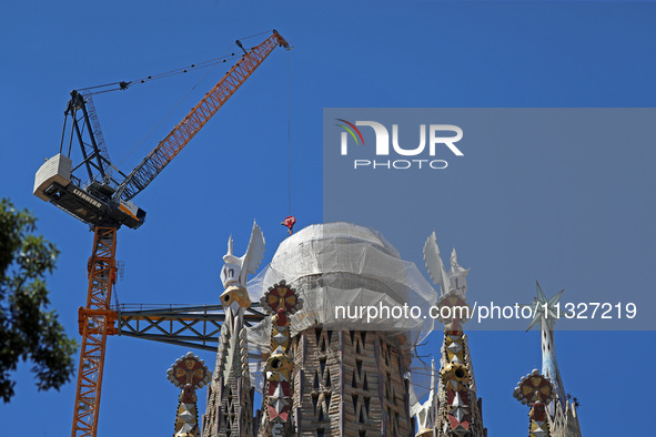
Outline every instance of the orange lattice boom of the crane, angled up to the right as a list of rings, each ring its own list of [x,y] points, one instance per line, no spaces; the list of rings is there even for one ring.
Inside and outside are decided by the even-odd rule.
[[[129,201],[145,189],[241,84],[249,79],[276,45],[287,50],[290,48],[289,43],[274,30],[273,34],[264,42],[246,52],[189,114],[173,128],[166,138],[128,175],[113,195],[114,201]]]

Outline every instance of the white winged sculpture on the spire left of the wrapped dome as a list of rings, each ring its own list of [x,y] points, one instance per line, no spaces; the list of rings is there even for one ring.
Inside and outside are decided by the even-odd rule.
[[[223,255],[223,268],[221,270],[221,282],[223,287],[238,286],[245,288],[249,273],[255,273],[264,257],[264,235],[258,223],[253,222],[251,241],[246,253],[242,257],[232,254],[232,235],[228,240],[228,253]]]

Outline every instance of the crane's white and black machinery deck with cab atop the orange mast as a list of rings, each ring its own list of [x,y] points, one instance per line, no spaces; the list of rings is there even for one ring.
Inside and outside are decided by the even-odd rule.
[[[112,186],[91,181],[83,189],[73,182],[72,164],[61,153],[47,160],[37,172],[33,194],[91,225],[124,224],[135,230],[144,223],[145,211],[130,201],[113,200]]]

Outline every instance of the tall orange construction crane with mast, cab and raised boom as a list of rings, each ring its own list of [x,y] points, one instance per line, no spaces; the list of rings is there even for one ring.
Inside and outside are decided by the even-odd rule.
[[[72,437],[97,434],[107,336],[119,333],[114,326],[119,315],[110,307],[112,287],[117,281],[117,231],[122,225],[138,228],[145,221],[145,211],[131,200],[182,151],[273,49],[280,45],[290,50],[290,44],[275,30],[251,50],[244,49],[239,40],[236,43],[244,51],[236,64],[131,173],[124,174],[112,164],[91,93],[78,91],[71,92],[71,100],[64,111],[59,153],[37,172],[34,195],[89,224],[94,235],[88,263],[87,303],[80,307],[78,319],[82,346]],[[123,90],[129,84],[120,82],[119,89]],[[67,144],[69,119],[71,125]],[[70,157],[73,139],[77,139],[82,156],[74,167]],[[75,172],[83,170],[88,175],[84,183],[75,175]]]

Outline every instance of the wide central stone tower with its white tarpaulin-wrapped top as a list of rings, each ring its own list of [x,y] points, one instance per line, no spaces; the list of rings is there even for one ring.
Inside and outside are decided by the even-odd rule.
[[[411,265],[375,231],[329,223],[286,238],[258,276],[263,284],[286,281],[304,301],[291,317],[292,409],[299,436],[415,435],[405,376],[425,322],[385,311],[369,319],[353,314],[371,305],[434,304],[436,295],[425,280],[421,292],[408,286],[408,278],[418,275]],[[258,297],[256,291],[250,293]],[[264,341],[265,332],[262,346]]]

